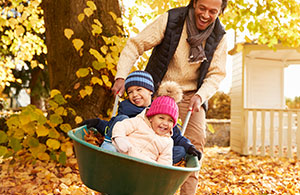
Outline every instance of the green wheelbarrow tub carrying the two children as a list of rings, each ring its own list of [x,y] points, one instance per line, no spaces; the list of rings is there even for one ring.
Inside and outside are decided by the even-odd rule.
[[[86,126],[70,130],[82,182],[109,195],[171,195],[200,166],[195,156],[187,156],[186,167],[166,166],[84,141]]]

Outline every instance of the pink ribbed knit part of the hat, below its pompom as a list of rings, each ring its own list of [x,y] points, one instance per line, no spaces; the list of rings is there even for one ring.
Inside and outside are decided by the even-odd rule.
[[[171,116],[174,120],[174,127],[178,119],[178,106],[175,100],[169,96],[160,96],[156,98],[152,102],[146,116],[149,117],[156,114],[167,114]]]

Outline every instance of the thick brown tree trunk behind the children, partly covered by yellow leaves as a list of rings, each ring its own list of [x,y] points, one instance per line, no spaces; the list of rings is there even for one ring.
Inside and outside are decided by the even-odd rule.
[[[72,97],[67,99],[68,106],[75,109],[76,114],[83,119],[95,118],[101,114],[106,116],[108,108],[112,107],[113,95],[110,89],[99,85],[93,87],[90,96],[81,98],[79,90],[90,85],[90,78],[78,78],[76,71],[79,68],[91,67],[96,60],[90,55],[89,49],[100,51],[103,44],[101,37],[92,35],[91,24],[98,19],[103,25],[102,35],[112,36],[118,34],[117,26],[108,12],[121,15],[118,0],[94,0],[97,10],[90,17],[85,16],[82,22],[78,21],[78,15],[84,13],[87,8],[86,0],[43,0],[44,19],[46,27],[46,45],[48,48],[47,62],[49,66],[50,88],[58,89],[63,95]],[[64,36],[64,30],[70,28],[74,31],[71,39]],[[76,51],[72,39],[78,38],[84,42],[82,56]],[[101,76],[99,71],[93,76]],[[113,82],[113,76],[110,75]],[[74,87],[80,83],[80,87]],[[67,118],[67,122],[74,126],[73,118]]]

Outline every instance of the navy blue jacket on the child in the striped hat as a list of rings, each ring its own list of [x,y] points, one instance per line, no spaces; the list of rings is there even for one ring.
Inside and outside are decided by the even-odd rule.
[[[124,100],[119,104],[119,108],[118,108],[118,115],[127,115],[129,118],[135,117],[136,115],[138,115],[139,113],[141,113],[143,110],[145,109],[145,107],[138,107],[134,104],[132,104],[129,100]],[[115,117],[111,118],[110,121],[104,121],[99,119],[98,125],[97,125],[97,129],[105,129],[106,126],[109,126]],[[98,131],[99,131],[98,129]],[[192,146],[192,143],[189,139],[187,139],[186,137],[182,136],[181,131],[178,127],[178,125],[176,125],[173,128],[173,135],[172,135],[172,139],[174,141],[174,146],[183,146],[185,151],[187,151],[189,149],[189,147]]]

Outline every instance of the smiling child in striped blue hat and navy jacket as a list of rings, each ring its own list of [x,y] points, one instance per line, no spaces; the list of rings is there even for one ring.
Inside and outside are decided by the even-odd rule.
[[[80,125],[87,125],[87,128],[94,127],[105,136],[102,148],[115,151],[111,144],[112,128],[116,122],[126,118],[132,118],[141,113],[145,108],[151,105],[154,84],[152,76],[146,71],[134,71],[128,75],[125,80],[125,90],[128,99],[122,101],[118,107],[118,114],[112,117],[110,121],[99,118],[83,121]],[[172,139],[173,147],[173,164],[178,163],[185,157],[186,153],[197,156],[200,160],[201,152],[190,142],[189,139],[181,135],[178,126],[173,128]]]

